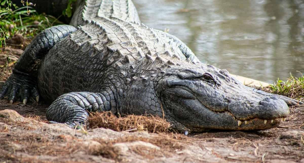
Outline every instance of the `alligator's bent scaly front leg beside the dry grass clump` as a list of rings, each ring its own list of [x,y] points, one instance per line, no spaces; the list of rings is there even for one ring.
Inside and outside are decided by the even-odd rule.
[[[71,128],[76,125],[85,126],[89,116],[87,111],[117,111],[116,102],[111,99],[112,95],[106,91],[67,93],[58,97],[47,109],[47,120],[52,123],[65,123]]]

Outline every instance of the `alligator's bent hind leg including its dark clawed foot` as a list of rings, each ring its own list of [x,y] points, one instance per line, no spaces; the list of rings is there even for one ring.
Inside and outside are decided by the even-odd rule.
[[[26,104],[30,94],[38,101],[39,94],[36,88],[36,80],[40,62],[50,48],[76,30],[77,28],[71,25],[57,25],[38,34],[26,47],[16,63],[12,75],[2,86],[0,99],[9,94],[9,102],[13,103],[21,90],[20,95],[24,104]]]

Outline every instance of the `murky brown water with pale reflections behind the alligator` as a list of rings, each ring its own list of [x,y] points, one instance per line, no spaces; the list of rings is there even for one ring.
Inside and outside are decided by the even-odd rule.
[[[304,73],[301,0],[133,0],[141,21],[184,41],[197,57],[273,82]]]

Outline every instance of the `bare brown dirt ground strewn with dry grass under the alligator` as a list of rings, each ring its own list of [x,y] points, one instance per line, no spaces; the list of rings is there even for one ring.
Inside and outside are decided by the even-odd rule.
[[[16,50],[5,53],[19,56]],[[12,67],[0,69],[0,80],[7,79]],[[73,130],[48,124],[47,106],[43,101],[23,105],[0,100],[0,162],[304,162],[304,106],[291,107],[290,116],[278,128],[188,136]]]

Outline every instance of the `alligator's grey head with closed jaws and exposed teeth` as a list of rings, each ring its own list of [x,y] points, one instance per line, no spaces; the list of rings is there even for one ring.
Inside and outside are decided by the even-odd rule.
[[[283,100],[255,93],[225,69],[182,67],[167,69],[156,86],[167,120],[179,130],[264,130],[289,114]]]

